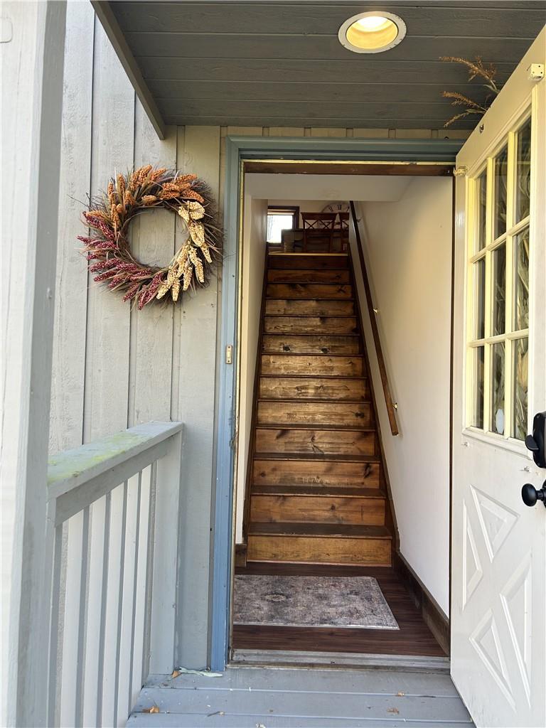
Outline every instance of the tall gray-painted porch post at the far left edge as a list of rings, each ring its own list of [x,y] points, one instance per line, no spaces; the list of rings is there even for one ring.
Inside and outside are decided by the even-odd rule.
[[[47,445],[65,19],[65,2],[2,3],[2,726],[47,725]]]

